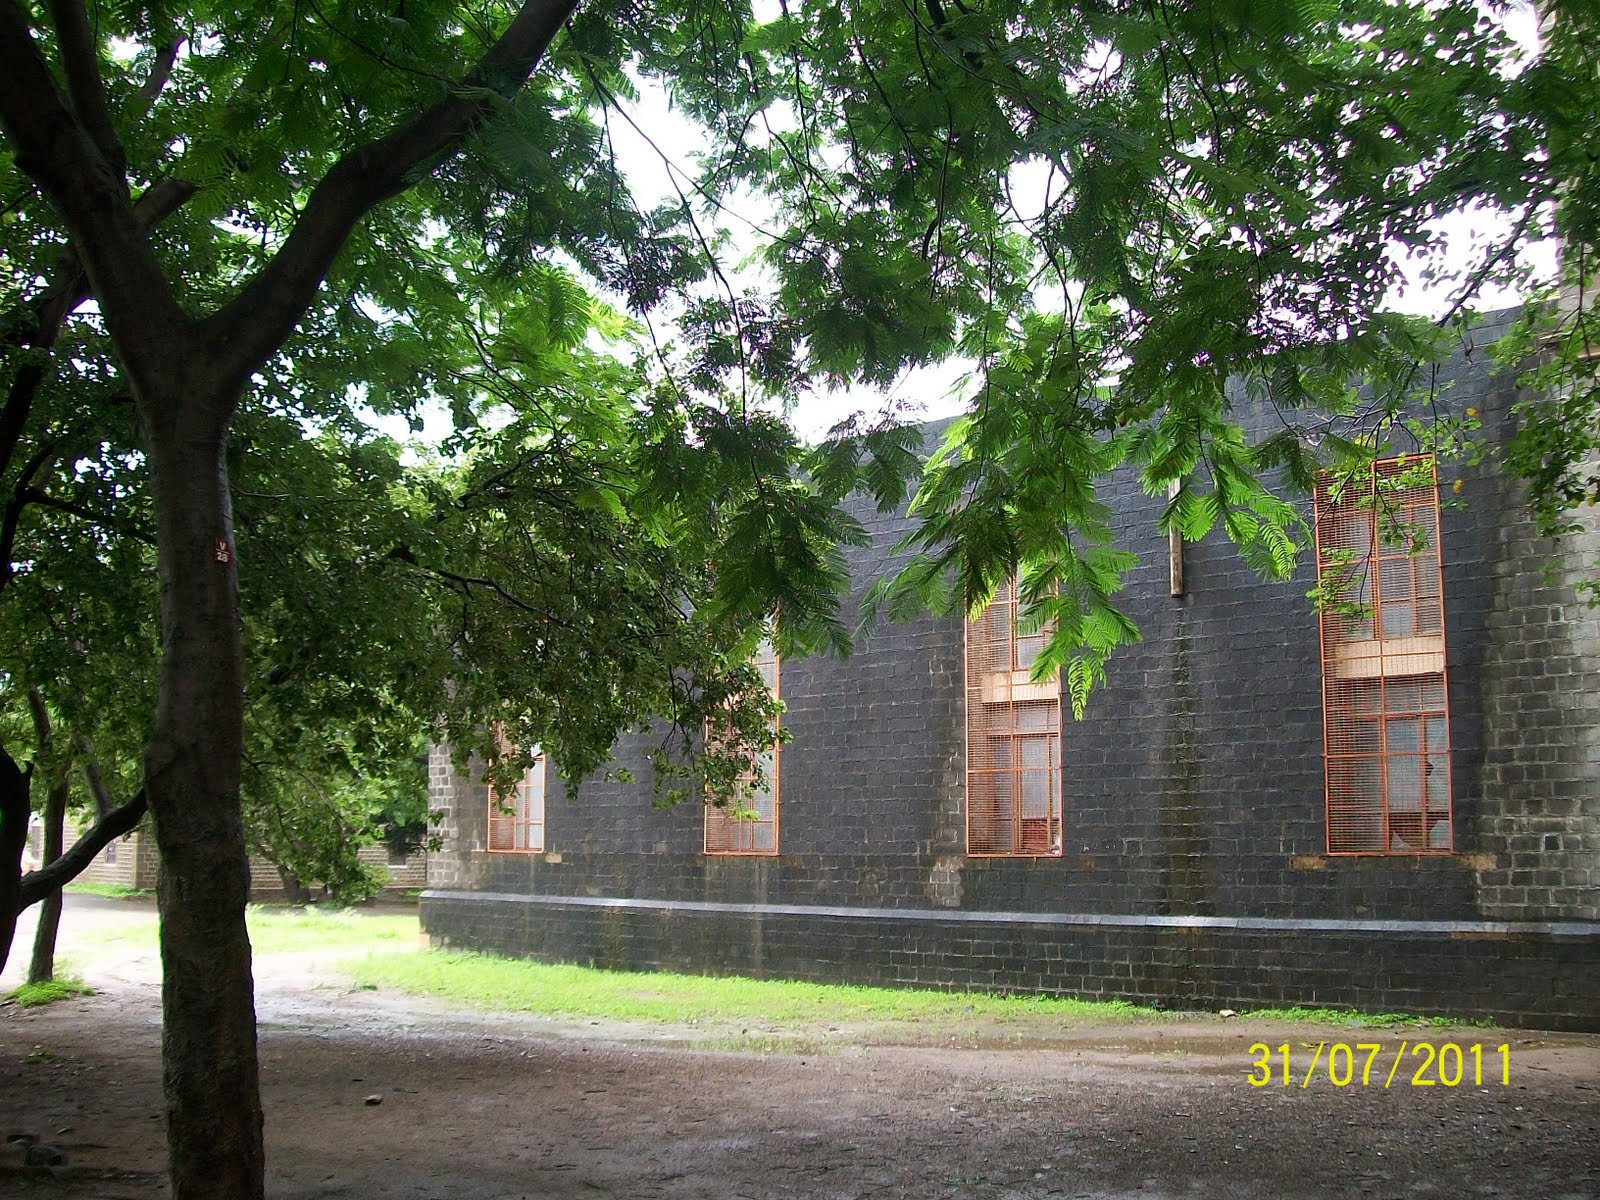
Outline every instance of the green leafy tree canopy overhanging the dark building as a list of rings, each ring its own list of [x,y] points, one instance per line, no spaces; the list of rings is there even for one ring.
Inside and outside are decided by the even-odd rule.
[[[1021,570],[1058,629],[1042,670],[1067,666],[1082,704],[1136,637],[1101,478],[1176,483],[1166,523],[1221,526],[1285,574],[1298,518],[1264,478],[1306,486],[1397,437],[1440,347],[1382,312],[1394,246],[1443,262],[1437,221],[1466,205],[1523,238],[1558,195],[1592,245],[1592,38],[1568,8],[1517,72],[1498,13],[1464,0],[581,6],[466,152],[357,227],[253,381],[230,459],[253,754],[366,763],[443,714],[462,746],[498,723],[582,773],[646,712],[682,750],[749,685],[763,614],[787,653],[845,645],[853,490],[915,494],[917,554],[880,603],[973,606]],[[437,98],[504,19],[98,6],[133,189],[187,189],[154,232],[186,307],[226,299],[338,155]],[[650,128],[645,85],[709,134],[659,205],[618,162],[619,126]],[[0,214],[14,330],[66,235],[10,150]],[[717,234],[736,218],[755,227],[741,272]],[[1464,286],[1506,274],[1506,250],[1480,246]],[[11,338],[8,384],[42,357]],[[952,357],[973,408],[926,475],[912,430],[808,450],[760,414]],[[154,582],[139,435],[93,310],[48,371],[0,464],[26,499],[6,670],[128,714],[131,738]],[[1285,432],[1246,438],[1242,398]],[[427,400],[456,430],[437,462],[366,429]]]

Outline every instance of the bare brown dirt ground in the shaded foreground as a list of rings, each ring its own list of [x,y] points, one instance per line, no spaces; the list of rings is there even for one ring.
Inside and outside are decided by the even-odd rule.
[[[69,1155],[51,1171],[11,1155],[0,1195],[166,1194],[152,966],[128,958],[112,981],[96,974],[101,995],[0,1010],[0,1136],[38,1133]],[[1594,1037],[1208,1018],[952,1027],[922,1045],[814,1030],[821,1051],[704,1050],[675,1043],[706,1030],[349,994],[293,957],[258,976],[278,1200],[1600,1198]],[[1418,1038],[1482,1045],[1485,1085],[1411,1086]],[[1402,1040],[1406,1066],[1386,1090]],[[1274,1083],[1250,1086],[1253,1042],[1290,1045],[1291,1086],[1280,1059]],[[1323,1066],[1301,1088],[1318,1042],[1379,1042],[1368,1086],[1334,1088]]]

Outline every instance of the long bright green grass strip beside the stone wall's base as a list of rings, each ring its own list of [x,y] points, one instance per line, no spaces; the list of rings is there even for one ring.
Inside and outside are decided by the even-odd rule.
[[[1046,1018],[1086,1024],[1154,1016],[1115,1000],[635,974],[448,950],[376,954],[342,966],[357,987],[395,987],[501,1011],[646,1024],[739,1024],[763,1032],[858,1022],[1005,1022]]]

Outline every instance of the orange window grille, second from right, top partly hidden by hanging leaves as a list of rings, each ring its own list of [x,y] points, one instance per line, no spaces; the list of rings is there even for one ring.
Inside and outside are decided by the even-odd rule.
[[[1051,629],[1018,630],[1016,582],[966,622],[966,853],[1061,854],[1061,674],[1035,683]]]

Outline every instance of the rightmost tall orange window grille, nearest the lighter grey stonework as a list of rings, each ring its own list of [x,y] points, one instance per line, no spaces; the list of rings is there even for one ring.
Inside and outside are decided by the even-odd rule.
[[[1317,488],[1330,854],[1448,854],[1450,704],[1429,456]]]

